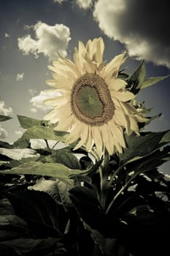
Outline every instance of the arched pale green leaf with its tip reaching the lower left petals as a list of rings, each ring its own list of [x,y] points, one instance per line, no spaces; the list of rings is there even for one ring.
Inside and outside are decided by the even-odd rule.
[[[26,148],[29,146],[30,139],[60,140],[64,142],[66,135],[42,125],[35,125],[27,129],[26,132],[23,133],[23,136],[15,141],[14,146]]]

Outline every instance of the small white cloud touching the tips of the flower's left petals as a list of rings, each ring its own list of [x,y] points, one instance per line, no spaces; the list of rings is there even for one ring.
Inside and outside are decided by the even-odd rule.
[[[33,106],[31,108],[32,112],[36,112],[37,110],[51,110],[50,106],[45,105],[43,102],[47,98],[53,98],[58,96],[58,92],[49,92],[49,91],[40,91],[40,93],[30,99],[30,102]]]

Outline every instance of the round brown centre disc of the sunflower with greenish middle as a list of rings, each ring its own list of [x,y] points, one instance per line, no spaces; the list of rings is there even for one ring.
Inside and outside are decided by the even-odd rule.
[[[71,104],[74,116],[90,126],[106,124],[115,111],[107,83],[90,73],[82,75],[74,83]]]

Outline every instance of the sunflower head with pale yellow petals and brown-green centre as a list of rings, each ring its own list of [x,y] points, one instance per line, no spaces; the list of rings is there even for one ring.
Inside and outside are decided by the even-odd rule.
[[[108,64],[103,62],[104,42],[101,37],[88,40],[74,50],[74,61],[58,57],[49,69],[53,80],[47,84],[58,97],[45,100],[53,110],[45,120],[57,123],[54,129],[69,132],[66,143],[78,143],[74,149],[93,146],[100,152],[107,148],[110,155],[125,148],[124,133],[139,134],[138,122],[146,121],[131,104],[134,94],[126,82],[117,77],[124,63],[125,52]],[[50,90],[51,91],[51,90]]]

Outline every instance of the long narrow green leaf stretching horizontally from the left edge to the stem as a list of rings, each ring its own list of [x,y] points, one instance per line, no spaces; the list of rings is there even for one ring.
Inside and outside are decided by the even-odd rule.
[[[2,174],[31,174],[40,176],[50,176],[54,178],[69,178],[71,175],[77,175],[88,172],[88,170],[70,169],[65,165],[58,163],[26,162],[10,170],[0,170]]]

